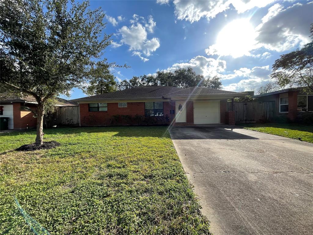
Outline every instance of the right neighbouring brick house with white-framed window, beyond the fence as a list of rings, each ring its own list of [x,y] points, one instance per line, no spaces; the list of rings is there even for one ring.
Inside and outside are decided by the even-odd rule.
[[[302,120],[304,115],[313,115],[313,95],[302,90],[302,87],[288,88],[253,97],[258,101],[275,101],[275,116],[295,122]]]

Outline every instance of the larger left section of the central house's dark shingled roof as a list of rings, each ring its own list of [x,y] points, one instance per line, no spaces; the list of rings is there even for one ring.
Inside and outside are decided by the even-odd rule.
[[[101,95],[83,97],[71,101],[162,99],[166,94],[180,90],[183,90],[183,88],[173,86],[140,86]]]

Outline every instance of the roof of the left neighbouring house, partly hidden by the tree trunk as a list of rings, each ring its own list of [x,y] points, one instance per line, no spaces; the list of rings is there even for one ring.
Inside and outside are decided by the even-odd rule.
[[[70,102],[68,100],[62,99],[57,97],[57,104],[56,106],[78,106],[76,102]],[[5,93],[0,94],[0,101],[2,103],[19,103],[19,102],[25,102],[25,103],[34,103],[37,104],[36,99],[33,96],[30,95],[24,95],[23,97],[15,96],[15,95],[10,95],[7,96]]]

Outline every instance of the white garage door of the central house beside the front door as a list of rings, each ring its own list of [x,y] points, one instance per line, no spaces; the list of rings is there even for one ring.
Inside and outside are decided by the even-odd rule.
[[[194,101],[194,124],[218,124],[219,101]]]

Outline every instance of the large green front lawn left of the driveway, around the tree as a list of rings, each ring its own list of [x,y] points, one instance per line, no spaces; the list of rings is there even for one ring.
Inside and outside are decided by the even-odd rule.
[[[209,234],[166,127],[44,133],[61,146],[17,152],[35,132],[1,134],[0,234]]]

